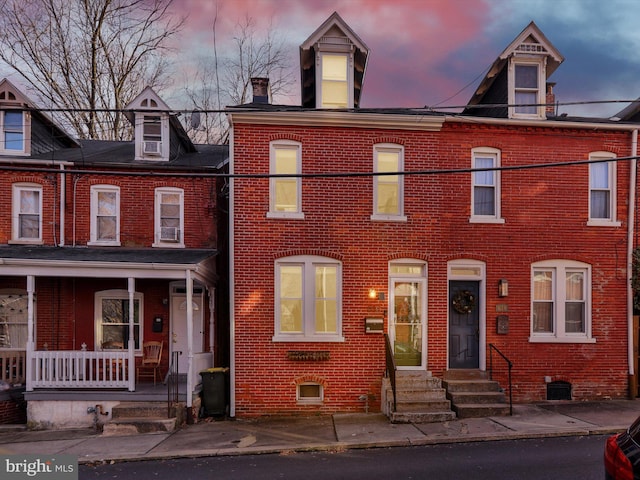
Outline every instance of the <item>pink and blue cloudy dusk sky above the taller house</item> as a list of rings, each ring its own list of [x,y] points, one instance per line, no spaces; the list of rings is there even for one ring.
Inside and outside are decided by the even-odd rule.
[[[549,79],[557,83],[560,103],[640,97],[636,0],[175,0],[176,11],[188,15],[176,60],[180,71],[189,71],[192,58],[211,54],[216,1],[218,54],[248,15],[258,30],[271,25],[286,42],[296,81],[298,47],[337,11],[370,49],[363,107],[464,105],[531,21],[565,57]],[[299,103],[299,83],[289,98],[275,102]],[[560,112],[606,117],[625,106],[567,105]]]

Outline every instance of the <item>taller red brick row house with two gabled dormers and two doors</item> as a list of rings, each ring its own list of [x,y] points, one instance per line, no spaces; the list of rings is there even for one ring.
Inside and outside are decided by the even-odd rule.
[[[362,108],[368,54],[334,13],[300,47],[300,106],[259,79],[228,110],[232,415],[392,416],[398,377],[444,391],[411,421],[460,413],[465,375],[626,397],[637,109],[558,115],[564,58],[534,23],[458,113]]]

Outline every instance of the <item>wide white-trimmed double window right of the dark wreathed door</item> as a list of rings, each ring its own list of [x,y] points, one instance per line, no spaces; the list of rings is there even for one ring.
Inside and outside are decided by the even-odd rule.
[[[595,342],[590,265],[570,260],[532,265],[530,341]]]

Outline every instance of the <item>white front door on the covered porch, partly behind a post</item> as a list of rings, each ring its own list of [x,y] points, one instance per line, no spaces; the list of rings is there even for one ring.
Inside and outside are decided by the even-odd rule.
[[[203,295],[202,289],[198,289],[196,292],[193,294],[193,353],[200,353],[204,347]],[[186,375],[189,368],[189,344],[187,339],[187,296],[185,294],[173,293],[171,295],[170,343],[170,351],[172,353],[178,352],[178,373]]]

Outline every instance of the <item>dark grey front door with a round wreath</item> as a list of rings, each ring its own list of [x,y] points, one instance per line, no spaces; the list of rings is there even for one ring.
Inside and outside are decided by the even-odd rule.
[[[480,284],[449,282],[449,368],[479,368]]]

